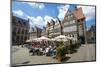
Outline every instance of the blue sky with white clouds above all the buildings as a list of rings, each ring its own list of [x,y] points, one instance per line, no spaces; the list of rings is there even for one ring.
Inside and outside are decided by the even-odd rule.
[[[54,4],[54,3],[35,3],[35,2],[12,2],[12,13],[14,16],[30,19],[31,27],[38,26],[43,28],[46,26],[47,21],[53,19],[56,21],[58,17],[63,20],[65,13],[68,10],[74,10],[74,8],[82,7],[83,13],[86,17],[86,25],[89,28],[92,24],[95,24],[95,7],[94,6],[82,6],[75,4]]]

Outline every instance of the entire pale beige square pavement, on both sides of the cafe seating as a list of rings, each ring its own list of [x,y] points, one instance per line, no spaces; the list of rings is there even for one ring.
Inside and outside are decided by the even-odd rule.
[[[16,50],[16,49],[17,50]],[[66,57],[70,57],[65,62],[75,61],[91,61],[95,60],[95,45],[82,45],[76,53],[66,54]],[[58,61],[52,57],[47,56],[31,56],[27,48],[12,47],[12,64],[45,64],[45,63],[58,63]]]

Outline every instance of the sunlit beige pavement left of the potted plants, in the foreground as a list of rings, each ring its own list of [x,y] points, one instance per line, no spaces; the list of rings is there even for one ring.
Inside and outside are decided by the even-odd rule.
[[[27,48],[20,48],[16,53],[12,53],[12,64],[45,64],[57,63],[56,59],[47,56],[31,56]]]

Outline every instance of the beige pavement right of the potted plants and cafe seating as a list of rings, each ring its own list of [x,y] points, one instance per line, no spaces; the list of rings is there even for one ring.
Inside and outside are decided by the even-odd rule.
[[[87,44],[82,45],[77,53],[70,54],[71,58],[67,62],[74,62],[74,61],[93,61],[95,60],[95,45],[94,44]]]

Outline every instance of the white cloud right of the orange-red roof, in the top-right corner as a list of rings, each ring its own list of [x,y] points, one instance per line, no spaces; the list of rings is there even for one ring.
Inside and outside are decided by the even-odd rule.
[[[78,6],[78,8],[79,7],[82,7],[83,13],[86,17],[86,21],[95,18],[95,7],[93,7],[93,6]]]

